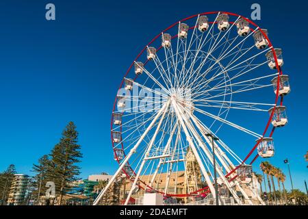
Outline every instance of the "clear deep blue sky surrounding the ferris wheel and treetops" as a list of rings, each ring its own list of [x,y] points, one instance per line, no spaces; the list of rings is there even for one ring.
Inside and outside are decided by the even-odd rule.
[[[56,21],[46,21],[54,3]],[[307,162],[307,20],[305,1],[0,1],[0,171],[15,164],[31,174],[72,120],[82,145],[82,175],[116,170],[110,142],[110,114],[126,69],[153,36],[181,18],[209,11],[249,17],[260,3],[270,39],[283,48],[284,72],[292,92],[285,99],[290,123],[274,133],[270,162],[305,190]],[[227,136],[231,138],[231,136]],[[255,162],[255,170],[261,159]],[[290,181],[287,179],[287,188]]]

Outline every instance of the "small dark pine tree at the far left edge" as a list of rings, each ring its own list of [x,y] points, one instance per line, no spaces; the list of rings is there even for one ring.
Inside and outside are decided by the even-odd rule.
[[[14,164],[11,164],[10,166],[8,166],[8,168],[4,172],[1,172],[0,174],[1,205],[3,205],[6,198],[8,198],[10,187],[14,179],[14,174],[16,174],[16,168]]]

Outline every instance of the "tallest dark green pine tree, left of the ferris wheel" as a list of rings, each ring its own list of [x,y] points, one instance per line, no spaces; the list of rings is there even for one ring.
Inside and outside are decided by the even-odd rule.
[[[49,166],[49,178],[55,182],[55,192],[59,194],[59,205],[62,205],[63,195],[70,189],[70,183],[76,181],[80,174],[80,162],[82,154],[81,146],[77,144],[78,132],[73,122],[68,123],[62,133],[60,142],[51,151],[51,165]]]

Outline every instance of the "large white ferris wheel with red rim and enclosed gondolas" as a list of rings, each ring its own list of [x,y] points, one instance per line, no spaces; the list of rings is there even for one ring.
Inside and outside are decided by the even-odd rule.
[[[119,168],[94,205],[123,173],[131,180],[125,204],[140,189],[215,196],[215,179],[235,203],[252,205],[253,196],[262,204],[248,185],[251,164],[274,155],[274,129],[287,124],[281,66],[268,31],[238,14],[205,12],[164,29],[120,83],[111,123]]]

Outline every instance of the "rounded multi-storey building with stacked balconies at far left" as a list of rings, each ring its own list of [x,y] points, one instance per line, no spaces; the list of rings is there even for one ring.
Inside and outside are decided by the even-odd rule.
[[[8,205],[22,205],[27,192],[28,176],[15,174],[8,195]]]

